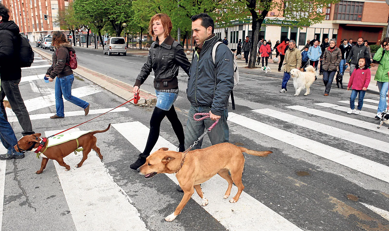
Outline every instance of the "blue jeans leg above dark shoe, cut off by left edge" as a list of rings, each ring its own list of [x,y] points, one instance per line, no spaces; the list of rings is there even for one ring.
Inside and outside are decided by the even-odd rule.
[[[4,114],[0,108],[0,140],[4,147],[8,149],[9,155],[23,155],[15,150],[14,146],[18,143],[14,130],[12,130],[11,124],[4,118]],[[4,154],[4,153],[3,153]]]

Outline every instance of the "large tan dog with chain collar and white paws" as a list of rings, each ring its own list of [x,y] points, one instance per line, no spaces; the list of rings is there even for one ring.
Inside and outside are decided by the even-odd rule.
[[[146,163],[137,170],[140,175],[149,179],[158,173],[175,173],[184,196],[175,211],[165,218],[165,221],[173,221],[185,207],[196,189],[197,194],[203,199],[202,206],[208,204],[203,196],[200,184],[219,174],[228,182],[228,188],[224,198],[231,193],[232,183],[238,187],[238,193],[230,202],[236,203],[242,193],[242,173],[245,158],[243,152],[253,156],[267,156],[272,151],[253,151],[238,147],[231,143],[215,144],[208,148],[196,149],[185,153],[168,151],[168,148],[160,148],[147,157]],[[228,174],[230,171],[231,176]]]

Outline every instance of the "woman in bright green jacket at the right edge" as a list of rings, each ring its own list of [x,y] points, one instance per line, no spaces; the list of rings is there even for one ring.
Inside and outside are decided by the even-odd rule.
[[[389,89],[389,37],[381,42],[381,47],[375,53],[373,59],[379,63],[374,80],[377,81],[378,90],[380,90],[380,102],[378,103],[377,115],[375,118],[381,119],[382,112],[385,111],[386,93]]]

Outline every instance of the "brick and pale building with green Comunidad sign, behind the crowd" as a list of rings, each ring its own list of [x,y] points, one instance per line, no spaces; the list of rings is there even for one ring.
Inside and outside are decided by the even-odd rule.
[[[296,41],[298,48],[302,49],[307,40],[324,38],[336,38],[338,45],[342,39],[352,38],[354,43],[358,37],[363,37],[369,44],[380,42],[384,26],[388,24],[389,6],[385,0],[358,0],[339,1],[336,4],[329,4],[322,9],[325,19],[321,23],[293,26],[297,21],[290,21],[280,17],[279,10],[268,12],[259,33],[259,38],[271,40],[274,46],[277,40],[285,38]],[[282,16],[282,15],[281,15]],[[242,41],[245,36],[251,38],[251,20],[236,20],[233,26],[218,27],[215,33],[219,38],[227,37],[230,48],[236,48],[239,39]]]

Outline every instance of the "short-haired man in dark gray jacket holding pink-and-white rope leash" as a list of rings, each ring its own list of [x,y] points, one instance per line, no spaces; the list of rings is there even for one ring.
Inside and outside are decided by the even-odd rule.
[[[189,70],[187,98],[191,102],[185,134],[185,148],[189,148],[215,120],[216,126],[208,133],[212,145],[228,142],[228,99],[234,86],[234,57],[231,50],[219,44],[212,60],[212,49],[217,42],[214,21],[206,13],[191,18],[193,36],[196,40],[191,69]],[[210,118],[195,121],[195,113],[210,113]],[[193,149],[200,149],[199,141]],[[192,149],[192,150],[193,150]]]

